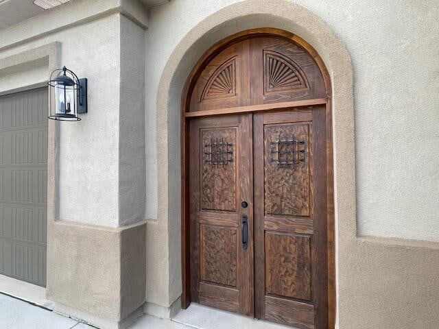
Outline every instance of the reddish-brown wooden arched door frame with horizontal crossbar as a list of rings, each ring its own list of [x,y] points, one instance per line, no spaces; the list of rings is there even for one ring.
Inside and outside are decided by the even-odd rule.
[[[247,38],[259,36],[277,36],[296,43],[305,49],[316,61],[322,73],[326,88],[326,99],[310,99],[302,101],[289,101],[286,103],[272,103],[268,105],[241,106],[239,108],[227,108],[221,110],[198,111],[189,114],[190,99],[193,87],[202,69],[220,51],[235,42]],[[327,119],[327,255],[328,255],[328,308],[329,308],[329,328],[335,325],[335,221],[334,221],[334,195],[333,195],[333,136],[332,136],[332,112],[331,112],[331,78],[322,58],[317,51],[305,40],[291,32],[274,28],[249,29],[237,34],[233,34],[215,43],[198,60],[193,67],[185,87],[182,91],[181,101],[181,241],[182,241],[182,308],[187,308],[191,303],[190,295],[190,266],[189,266],[189,125],[187,121],[190,117],[208,116],[217,114],[231,114],[237,112],[259,112],[279,110],[282,108],[298,108],[302,106],[321,105],[326,106]]]

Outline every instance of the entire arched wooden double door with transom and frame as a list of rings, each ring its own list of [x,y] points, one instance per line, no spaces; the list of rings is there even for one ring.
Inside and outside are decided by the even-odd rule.
[[[333,326],[331,85],[304,40],[214,45],[182,98],[183,306]]]

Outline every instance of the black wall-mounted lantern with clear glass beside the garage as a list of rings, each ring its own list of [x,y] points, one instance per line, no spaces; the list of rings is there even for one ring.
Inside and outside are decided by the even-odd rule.
[[[87,80],[78,77],[64,66],[56,69],[47,82],[54,89],[50,98],[49,119],[80,121],[78,114],[87,112]],[[54,104],[52,103],[54,101]]]

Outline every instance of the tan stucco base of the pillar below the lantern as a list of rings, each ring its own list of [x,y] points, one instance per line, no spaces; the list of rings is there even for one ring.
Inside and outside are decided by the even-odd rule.
[[[119,321],[145,300],[145,223],[105,228],[59,221],[49,246],[47,297]],[[80,266],[78,266],[80,265]]]

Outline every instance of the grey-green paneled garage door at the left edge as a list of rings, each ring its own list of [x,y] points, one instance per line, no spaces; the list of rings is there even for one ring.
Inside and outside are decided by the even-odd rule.
[[[45,286],[47,88],[0,96],[0,273]]]

